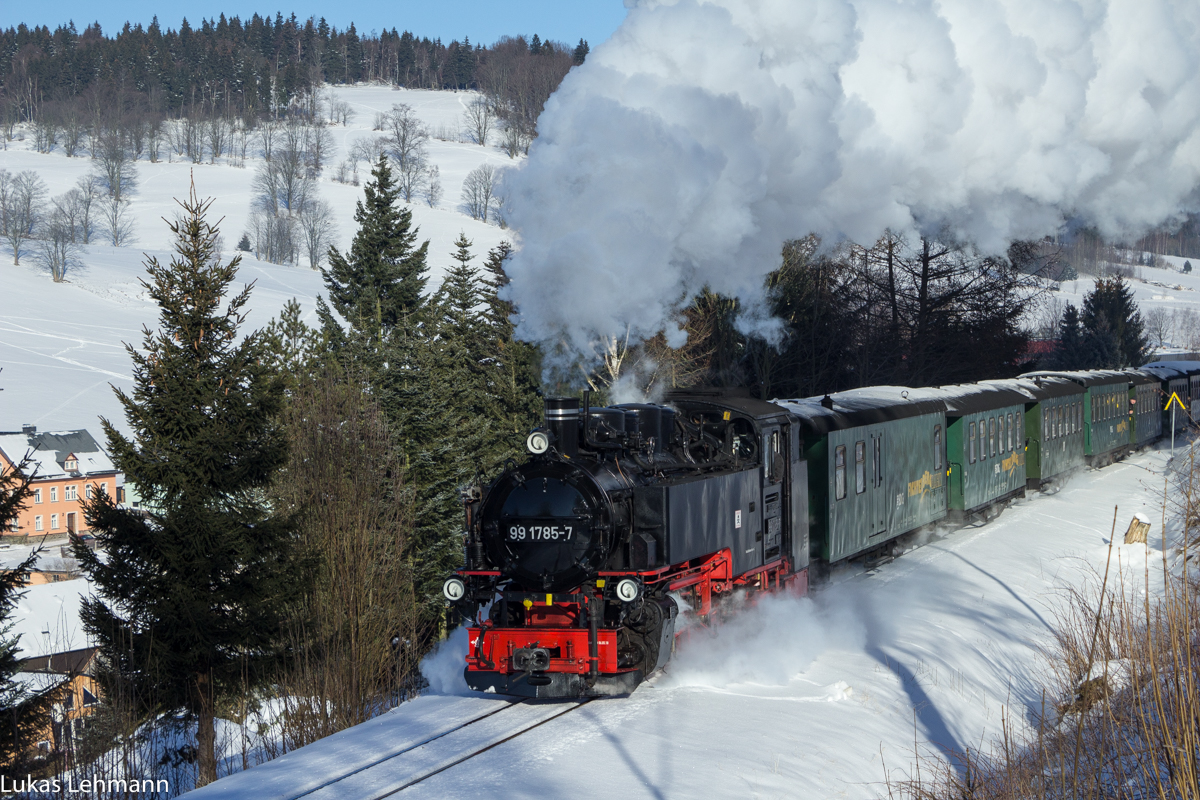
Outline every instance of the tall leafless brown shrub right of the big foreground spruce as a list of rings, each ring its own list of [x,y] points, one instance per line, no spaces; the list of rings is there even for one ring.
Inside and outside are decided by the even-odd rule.
[[[293,456],[275,501],[296,512],[320,564],[292,616],[295,655],[277,682],[281,750],[295,750],[408,696],[418,614],[406,555],[410,498],[371,395],[353,374],[328,368],[296,389],[283,427]]]

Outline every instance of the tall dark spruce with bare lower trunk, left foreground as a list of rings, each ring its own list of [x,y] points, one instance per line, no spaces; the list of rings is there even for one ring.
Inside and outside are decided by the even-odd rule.
[[[144,330],[143,350],[127,345],[132,396],[115,390],[132,438],[101,420],[146,513],[97,493],[85,515],[108,558],[74,547],[98,594],[82,616],[106,656],[103,682],[143,714],[197,721],[200,786],[217,777],[217,703],[266,678],[305,577],[293,524],[264,495],[287,458],[283,384],[262,333],[239,341],[251,287],[229,296],[240,258],[221,263],[210,204],[193,186],[170,225],[175,257],[146,261],[158,330]]]

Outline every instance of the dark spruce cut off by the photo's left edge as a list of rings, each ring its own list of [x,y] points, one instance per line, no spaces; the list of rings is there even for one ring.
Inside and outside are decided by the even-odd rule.
[[[0,473],[0,523],[16,519],[32,495],[29,462]],[[16,680],[20,672],[20,637],[13,636],[12,612],[22,587],[37,563],[35,551],[24,561],[0,572],[0,775],[24,777],[34,769],[34,746],[50,724],[50,710],[60,690],[31,692]]]

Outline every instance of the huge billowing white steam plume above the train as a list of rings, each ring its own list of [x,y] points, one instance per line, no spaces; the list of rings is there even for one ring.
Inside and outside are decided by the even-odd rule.
[[[505,178],[521,335],[678,341],[785,239],[1128,236],[1200,184],[1195,0],[626,0]]]

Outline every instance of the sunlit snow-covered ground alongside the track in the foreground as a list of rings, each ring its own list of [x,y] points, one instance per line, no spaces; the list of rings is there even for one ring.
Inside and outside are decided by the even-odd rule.
[[[1098,582],[1114,506],[1112,564],[1127,585],[1146,559],[1163,557],[1166,455],[1086,471],[875,572],[835,576],[812,599],[764,600],[714,638],[683,645],[666,674],[632,696],[566,712],[402,796],[886,795],[886,777],[907,772],[914,747],[978,747],[1003,718],[1040,712],[1055,609],[1067,588]],[[1121,545],[1139,511],[1154,521],[1150,545]],[[494,696],[464,696],[461,638],[450,646],[457,651],[437,658],[431,675],[437,691],[194,796],[294,798],[503,708]],[[502,711],[312,796],[377,796],[491,741],[488,726],[524,726],[536,714],[548,710],[520,720]]]

